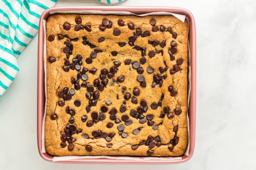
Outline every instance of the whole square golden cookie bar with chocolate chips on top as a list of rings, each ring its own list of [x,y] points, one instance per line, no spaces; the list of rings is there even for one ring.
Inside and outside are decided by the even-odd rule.
[[[46,46],[49,154],[184,154],[187,21],[55,14]]]

